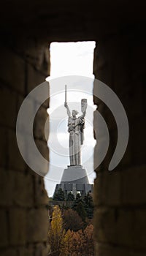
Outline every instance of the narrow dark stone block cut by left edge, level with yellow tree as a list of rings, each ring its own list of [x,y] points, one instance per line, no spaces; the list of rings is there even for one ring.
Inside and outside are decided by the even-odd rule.
[[[0,210],[0,219],[1,219],[1,232],[0,232],[0,246],[7,246],[8,244],[8,232],[7,229],[7,213],[6,211]]]

